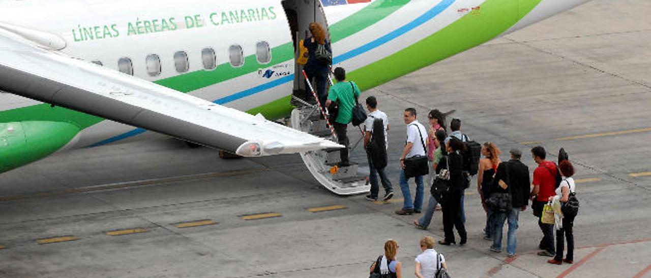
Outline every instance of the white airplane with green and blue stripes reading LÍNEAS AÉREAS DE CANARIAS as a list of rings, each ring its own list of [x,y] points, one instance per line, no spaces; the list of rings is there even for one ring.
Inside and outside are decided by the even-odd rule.
[[[0,1],[0,173],[155,131],[245,157],[301,153],[333,192],[368,191],[333,187],[328,150],[342,146],[292,105],[309,91],[295,62],[309,23],[367,90],[587,1]],[[290,116],[296,129],[274,122]]]

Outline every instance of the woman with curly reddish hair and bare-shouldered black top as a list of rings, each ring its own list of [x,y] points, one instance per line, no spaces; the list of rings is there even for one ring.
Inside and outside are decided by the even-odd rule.
[[[493,230],[493,210],[486,205],[486,199],[493,191],[493,177],[497,173],[497,166],[501,160],[499,155],[501,151],[492,142],[486,142],[482,145],[482,155],[484,158],[479,160],[479,171],[477,173],[477,192],[482,200],[482,206],[486,212],[486,227],[484,227],[484,240],[492,240]]]

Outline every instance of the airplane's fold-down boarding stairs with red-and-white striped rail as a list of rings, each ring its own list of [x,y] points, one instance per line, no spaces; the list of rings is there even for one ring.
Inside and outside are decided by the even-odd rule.
[[[303,75],[305,75],[304,71]],[[332,83],[332,81],[330,82]],[[321,107],[311,84],[309,84],[309,87],[312,96],[316,99],[316,104],[307,103],[294,97],[294,101],[300,103],[300,105],[292,110],[292,127],[337,142],[337,135],[333,127],[327,120],[324,120],[328,118],[327,109]],[[359,142],[357,143],[359,144]],[[352,195],[370,190],[367,173],[359,173],[356,163],[351,162],[350,166],[337,166],[337,162],[340,162],[339,149],[322,149],[300,154],[305,166],[310,170],[316,181],[331,192],[339,195]]]

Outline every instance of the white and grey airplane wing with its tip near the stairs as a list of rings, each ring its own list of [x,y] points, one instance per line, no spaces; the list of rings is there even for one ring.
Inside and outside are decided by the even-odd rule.
[[[342,147],[36,45],[0,29],[0,90],[246,157]]]

